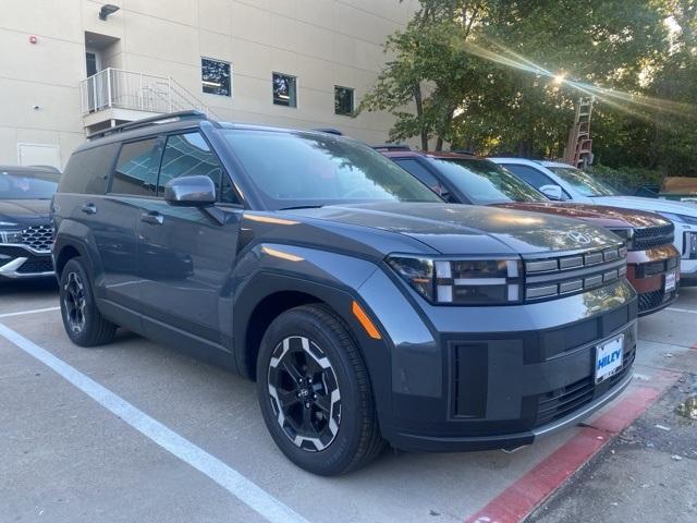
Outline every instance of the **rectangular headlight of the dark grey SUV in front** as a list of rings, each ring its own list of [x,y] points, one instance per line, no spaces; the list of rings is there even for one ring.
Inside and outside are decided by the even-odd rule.
[[[522,262],[389,256],[388,264],[421,296],[436,304],[521,303]]]

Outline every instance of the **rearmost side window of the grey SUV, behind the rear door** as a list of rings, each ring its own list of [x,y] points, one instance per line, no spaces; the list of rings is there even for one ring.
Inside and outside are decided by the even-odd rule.
[[[119,144],[73,153],[58,185],[59,193],[105,194]]]

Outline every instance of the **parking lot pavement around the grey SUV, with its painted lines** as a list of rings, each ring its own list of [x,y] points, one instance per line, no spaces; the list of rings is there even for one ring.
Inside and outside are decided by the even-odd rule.
[[[685,289],[640,320],[635,380],[583,426],[514,453],[388,450],[322,478],[277,449],[254,384],[129,332],[77,348],[57,306],[51,283],[0,287],[0,521],[519,521],[697,361]]]

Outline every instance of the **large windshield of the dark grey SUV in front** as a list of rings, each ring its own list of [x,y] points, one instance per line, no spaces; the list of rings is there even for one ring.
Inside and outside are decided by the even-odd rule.
[[[228,130],[223,135],[271,209],[442,202],[391,160],[346,138],[254,130]]]

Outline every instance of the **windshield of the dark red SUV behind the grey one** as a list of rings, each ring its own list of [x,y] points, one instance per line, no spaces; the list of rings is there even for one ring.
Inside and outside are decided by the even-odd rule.
[[[448,180],[473,204],[547,199],[541,193],[492,161],[479,158],[433,158],[432,160]]]

